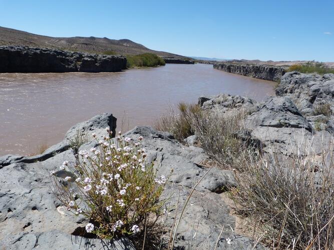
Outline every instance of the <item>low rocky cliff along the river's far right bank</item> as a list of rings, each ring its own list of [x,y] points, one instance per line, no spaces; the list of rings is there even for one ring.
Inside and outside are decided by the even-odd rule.
[[[241,74],[263,80],[277,81],[285,73],[283,67],[264,64],[215,63],[213,67],[229,73]]]

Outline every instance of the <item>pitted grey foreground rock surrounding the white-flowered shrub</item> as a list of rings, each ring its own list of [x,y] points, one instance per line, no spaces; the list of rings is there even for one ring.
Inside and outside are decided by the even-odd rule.
[[[73,138],[78,128],[85,134],[95,132],[98,137],[106,135],[104,128],[110,126],[115,130],[115,122],[111,114],[95,116],[72,127],[62,143]],[[140,135],[144,137],[142,145],[146,148],[147,162],[154,163],[159,175],[170,176],[161,197],[169,198],[166,204],[168,215],[159,220],[165,228],[166,233],[161,242],[166,247],[175,216],[177,221],[195,183],[208,170],[200,164],[207,155],[202,148],[184,146],[174,140],[171,134],[149,126],[138,126],[125,134],[133,139],[138,139]],[[95,140],[88,141],[79,150],[89,149],[96,144]],[[61,146],[58,144],[49,148],[47,151],[54,153],[47,159],[40,157],[41,160],[25,162],[22,156],[7,155],[0,158],[0,162],[6,162],[0,169],[0,248],[134,249],[126,238],[110,242],[78,236],[78,228],[82,228],[88,221],[85,217],[66,213],[50,189],[49,175],[49,171],[59,167],[64,160],[75,162],[75,151],[63,147],[62,151],[57,152],[52,148]],[[61,170],[56,174],[60,181],[66,176],[61,174]],[[253,241],[250,238],[233,232],[236,217],[231,215],[231,208],[221,195],[224,190],[235,185],[231,171],[210,169],[186,206],[176,233],[175,249],[187,249],[190,242],[190,248],[197,246],[200,249],[200,246],[205,245],[205,248],[213,249],[217,240],[217,249],[252,248]],[[219,237],[223,227],[224,232]],[[196,240],[192,240],[195,237]],[[264,248],[257,245],[253,249]]]

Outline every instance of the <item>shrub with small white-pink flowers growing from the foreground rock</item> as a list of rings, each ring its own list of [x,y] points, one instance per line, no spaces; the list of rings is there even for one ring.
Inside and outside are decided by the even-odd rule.
[[[110,130],[109,130],[110,132]],[[111,132],[110,132],[111,137]],[[54,178],[54,192],[69,212],[90,219],[88,233],[100,238],[132,235],[145,228],[145,221],[160,215],[159,201],[165,176],[156,176],[153,164],[139,141],[117,136],[98,141],[98,148],[79,151],[78,162],[64,162],[65,180]],[[51,172],[57,175],[57,172]],[[73,187],[75,183],[76,187]]]

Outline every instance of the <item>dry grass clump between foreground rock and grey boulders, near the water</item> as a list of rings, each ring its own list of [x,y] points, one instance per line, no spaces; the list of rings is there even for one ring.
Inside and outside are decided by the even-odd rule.
[[[237,168],[250,155],[244,141],[235,135],[244,128],[244,117],[243,110],[202,110],[197,104],[179,103],[178,113],[170,108],[156,128],[172,133],[180,142],[196,134],[201,147],[221,167]]]

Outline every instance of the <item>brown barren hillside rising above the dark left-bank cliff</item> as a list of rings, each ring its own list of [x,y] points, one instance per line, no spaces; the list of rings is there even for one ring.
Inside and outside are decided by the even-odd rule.
[[[59,48],[70,51],[86,51],[108,54],[155,53],[160,56],[184,58],[185,56],[156,51],[129,39],[109,39],[107,37],[51,37],[33,34],[17,29],[0,26],[0,45],[25,45],[31,47]]]

